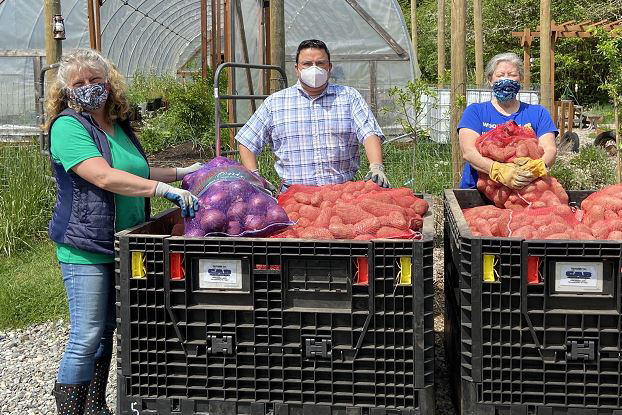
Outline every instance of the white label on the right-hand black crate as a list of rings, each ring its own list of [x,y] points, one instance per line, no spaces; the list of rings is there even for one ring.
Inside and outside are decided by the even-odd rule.
[[[557,262],[555,291],[603,292],[603,264],[598,262]]]

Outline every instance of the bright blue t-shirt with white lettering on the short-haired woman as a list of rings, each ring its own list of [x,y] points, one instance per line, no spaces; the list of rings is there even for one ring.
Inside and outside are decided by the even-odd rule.
[[[503,115],[497,111],[491,101],[471,104],[466,107],[458,123],[458,132],[461,128],[468,128],[481,135],[510,120],[514,120],[516,124],[521,126],[530,123],[538,138],[546,133],[554,133],[555,135],[559,133],[549,112],[542,105],[521,102],[518,111],[510,115]],[[462,171],[460,188],[473,189],[476,185],[477,170],[471,167],[469,162],[466,162]]]

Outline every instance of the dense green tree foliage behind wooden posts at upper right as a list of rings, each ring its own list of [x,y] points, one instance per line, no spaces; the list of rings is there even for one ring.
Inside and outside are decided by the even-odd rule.
[[[410,27],[410,0],[398,0],[406,23]],[[449,67],[451,1],[445,1],[445,56]],[[511,3],[501,0],[482,0],[484,37],[484,61],[500,52],[515,52],[522,56],[518,39],[513,31],[525,27],[532,30],[540,24],[540,5],[534,0],[515,0]],[[575,20],[577,22],[622,18],[620,0],[557,0],[552,3],[551,15],[557,23]],[[428,82],[436,81],[436,21],[437,0],[417,1],[418,63],[422,77]],[[475,49],[473,35],[472,2],[467,1],[467,72],[474,80]],[[571,91],[579,104],[604,103],[606,94],[598,90],[607,78],[609,65],[596,52],[597,41],[590,38],[559,39],[555,44],[556,96]],[[540,42],[532,45],[532,81],[537,84],[540,77]],[[576,87],[575,87],[576,85]],[[576,88],[576,92],[575,92]]]

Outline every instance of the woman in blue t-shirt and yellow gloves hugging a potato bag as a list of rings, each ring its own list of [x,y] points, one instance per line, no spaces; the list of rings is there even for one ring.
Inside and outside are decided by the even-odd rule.
[[[469,105],[458,124],[462,156],[467,161],[460,180],[461,189],[475,188],[478,172],[512,189],[520,189],[547,174],[555,162],[558,130],[542,105],[532,105],[516,98],[523,79],[523,62],[515,53],[495,55],[486,65],[486,78],[492,88],[492,100]],[[531,124],[544,149],[541,159],[523,165],[500,163],[483,157],[475,140],[499,124],[514,120],[518,125]]]

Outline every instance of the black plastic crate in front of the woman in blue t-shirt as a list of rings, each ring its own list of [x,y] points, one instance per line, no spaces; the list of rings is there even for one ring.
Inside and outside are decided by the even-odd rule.
[[[578,205],[591,192],[568,193]],[[461,413],[622,415],[622,244],[474,237],[462,209],[486,204],[481,194],[446,190],[444,202],[445,347]],[[572,267],[595,270],[586,281],[600,292],[562,284]]]

